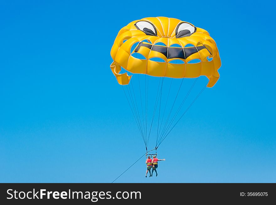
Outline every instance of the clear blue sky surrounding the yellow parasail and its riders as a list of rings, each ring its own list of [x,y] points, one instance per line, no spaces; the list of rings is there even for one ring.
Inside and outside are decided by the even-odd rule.
[[[109,65],[120,28],[166,16],[206,29],[220,79],[116,182],[276,182],[272,1],[0,3],[0,182],[111,182],[145,153]]]

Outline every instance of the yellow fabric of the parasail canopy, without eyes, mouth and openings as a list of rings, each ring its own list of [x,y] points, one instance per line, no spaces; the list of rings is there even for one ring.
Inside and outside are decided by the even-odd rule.
[[[149,25],[149,23],[153,25],[153,27],[151,28],[156,29],[156,31],[153,31],[154,35],[147,35],[142,30],[143,28],[141,28],[141,30],[140,27],[139,29],[137,29],[138,27],[136,27],[135,24],[138,21],[146,21],[140,22],[145,24],[137,24],[139,26],[142,25],[142,27],[146,24]],[[132,21],[130,24],[123,27],[119,31],[110,52],[111,57],[114,60],[110,68],[114,73],[118,83],[125,85],[128,84],[131,79],[131,76],[128,76],[126,73],[119,73],[121,71],[121,67],[123,67],[132,73],[143,73],[159,77],[166,76],[172,78],[193,78],[203,75],[209,78],[209,83],[207,87],[214,86],[216,81],[219,79],[218,69],[221,66],[217,45],[214,39],[210,37],[209,33],[206,30],[198,27],[196,28],[196,30],[194,29],[195,32],[191,35],[184,37],[178,35],[178,38],[176,38],[176,28],[180,23],[183,22],[184,21],[175,18],[149,17],[143,18],[141,20]],[[194,27],[193,24],[190,25]],[[124,40],[126,41],[123,43]],[[137,52],[143,55],[146,58],[145,60],[137,59],[135,58],[135,54],[133,57],[130,53],[132,45],[134,45],[135,43],[138,44],[143,40],[151,41],[151,43],[143,42],[143,45],[140,45]],[[167,59],[167,56],[163,55],[159,51],[155,51],[158,47],[155,47],[155,50],[152,50],[152,45],[155,45],[158,42],[164,43],[166,45],[164,47],[166,48],[167,46],[171,46],[173,44],[178,44],[182,48],[184,48],[187,44],[192,44],[194,46],[204,45],[211,52],[211,54],[207,49],[202,49],[190,56],[185,56],[186,59],[174,58],[183,60],[185,62],[184,64],[173,64],[168,61],[172,61],[174,59]],[[135,53],[135,51],[133,51],[132,53]],[[206,59],[208,56],[210,58],[212,57],[213,60],[208,61]],[[154,57],[162,58],[165,62],[155,62],[149,60]],[[190,60],[194,59],[200,59],[201,62],[196,64],[187,63]]]

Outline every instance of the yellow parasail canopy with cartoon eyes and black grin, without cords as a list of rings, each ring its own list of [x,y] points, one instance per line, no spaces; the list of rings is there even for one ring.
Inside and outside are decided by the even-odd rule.
[[[123,27],[111,57],[110,68],[121,85],[129,84],[131,79],[126,72],[120,73],[123,67],[133,74],[157,77],[206,76],[207,87],[213,87],[221,66],[216,43],[206,30],[167,17],[143,18]]]

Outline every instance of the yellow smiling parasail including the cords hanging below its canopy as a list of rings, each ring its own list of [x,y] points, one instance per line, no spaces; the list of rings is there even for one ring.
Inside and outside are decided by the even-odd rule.
[[[155,124],[157,127],[155,150],[157,150],[205,87],[213,87],[220,77],[218,69],[221,61],[214,39],[206,30],[176,18],[150,17],[132,21],[119,31],[110,53],[113,59],[110,68],[124,89],[146,150],[155,116],[158,116],[156,121],[158,123]],[[145,87],[142,88],[140,74],[145,76]],[[138,76],[137,86],[133,86],[134,78],[131,80],[134,75]],[[179,115],[199,76],[206,76],[209,81],[184,113]],[[149,86],[149,77],[153,81],[159,79],[156,91],[154,86]],[[166,81],[164,78],[168,79],[168,86],[163,86]],[[186,95],[179,94],[180,88],[183,87],[183,79],[188,78],[195,78],[195,81]],[[179,89],[172,86],[173,79],[176,81],[180,79]],[[154,91],[152,94],[149,87]],[[174,91],[175,98],[170,96]],[[140,96],[137,93],[140,93]],[[154,93],[156,98],[153,97]],[[162,93],[165,95],[163,98]],[[179,96],[185,97],[180,101],[179,107],[173,110]],[[150,97],[153,99],[150,100]],[[171,99],[171,108],[167,109],[168,101]],[[148,118],[150,107],[148,102],[154,104],[151,120]],[[166,109],[167,116],[165,116]]]

